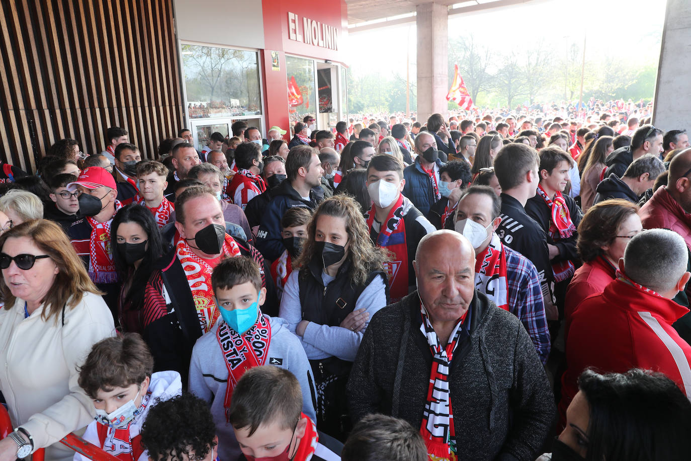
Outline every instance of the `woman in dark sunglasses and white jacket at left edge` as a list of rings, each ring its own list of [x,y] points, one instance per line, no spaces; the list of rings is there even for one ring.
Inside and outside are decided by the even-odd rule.
[[[0,460],[46,448],[68,461],[59,443],[92,420],[93,402],[77,370],[93,344],[115,335],[113,316],[61,227],[30,220],[0,235],[0,391],[12,426]]]

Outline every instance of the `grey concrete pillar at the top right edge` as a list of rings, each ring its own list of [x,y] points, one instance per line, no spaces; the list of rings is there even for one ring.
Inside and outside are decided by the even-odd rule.
[[[653,122],[663,131],[691,128],[691,3],[667,0]]]

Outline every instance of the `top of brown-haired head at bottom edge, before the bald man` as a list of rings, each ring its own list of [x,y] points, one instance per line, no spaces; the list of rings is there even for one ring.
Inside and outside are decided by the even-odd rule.
[[[419,431],[405,420],[372,414],[355,424],[343,444],[343,461],[427,461]]]

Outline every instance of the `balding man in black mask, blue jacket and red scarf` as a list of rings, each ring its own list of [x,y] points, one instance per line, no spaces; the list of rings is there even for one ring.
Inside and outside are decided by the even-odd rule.
[[[406,180],[403,195],[426,215],[430,207],[442,199],[439,192],[439,169],[444,166],[444,162],[439,160],[434,136],[426,131],[420,131],[415,137],[415,153],[415,163],[408,165],[403,171]]]

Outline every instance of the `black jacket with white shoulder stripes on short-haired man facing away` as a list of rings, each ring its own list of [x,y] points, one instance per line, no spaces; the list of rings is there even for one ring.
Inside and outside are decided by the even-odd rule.
[[[535,265],[540,275],[542,297],[545,301],[554,302],[554,274],[549,262],[547,234],[540,224],[528,216],[520,202],[507,194],[502,194],[502,223],[497,228],[497,235],[502,243],[511,250],[516,250]]]

